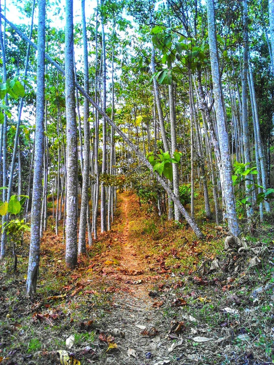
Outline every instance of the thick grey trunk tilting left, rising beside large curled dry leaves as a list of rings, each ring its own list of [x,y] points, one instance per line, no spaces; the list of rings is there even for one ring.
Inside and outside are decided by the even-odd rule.
[[[210,64],[211,64],[213,92],[215,100],[214,107],[216,111],[217,131],[218,131],[219,146],[221,153],[220,177],[222,180],[222,193],[225,200],[229,230],[231,231],[232,234],[238,236],[240,234],[240,228],[235,209],[235,201],[234,201],[232,178],[231,178],[231,160],[228,146],[228,134],[225,128],[225,115],[222,105],[213,0],[207,0],[207,8],[208,8],[208,40],[209,40],[209,51],[210,51]]]

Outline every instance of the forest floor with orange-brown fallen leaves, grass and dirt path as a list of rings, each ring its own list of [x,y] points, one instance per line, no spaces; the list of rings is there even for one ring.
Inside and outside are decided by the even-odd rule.
[[[274,363],[267,220],[259,237],[229,241],[201,219],[206,238],[198,241],[123,193],[111,231],[73,272],[61,235],[47,231],[35,297],[25,296],[27,244],[17,248],[15,273],[11,258],[1,266],[0,364]]]

